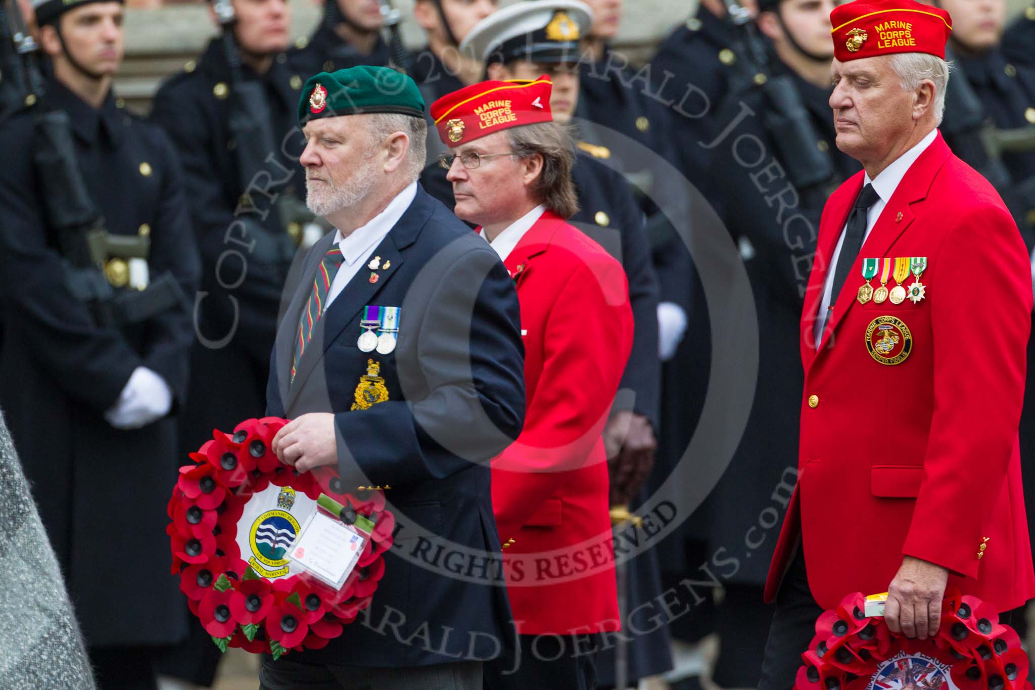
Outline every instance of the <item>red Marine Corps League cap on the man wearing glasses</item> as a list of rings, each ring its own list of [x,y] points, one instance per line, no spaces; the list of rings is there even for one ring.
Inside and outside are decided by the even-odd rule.
[[[552,121],[553,88],[545,74],[534,82],[472,84],[432,103],[432,119],[446,146],[460,146],[508,127]]]

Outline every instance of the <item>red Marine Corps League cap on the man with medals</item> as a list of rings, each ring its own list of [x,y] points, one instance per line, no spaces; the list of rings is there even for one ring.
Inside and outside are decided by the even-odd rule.
[[[855,0],[830,12],[834,57],[840,62],[892,53],[928,53],[945,59],[952,18],[913,0]]]

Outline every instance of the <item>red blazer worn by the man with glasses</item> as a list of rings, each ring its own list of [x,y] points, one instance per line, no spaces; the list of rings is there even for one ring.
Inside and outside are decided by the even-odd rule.
[[[621,264],[546,211],[504,265],[521,302],[525,428],[493,460],[493,512],[518,632],[618,624],[600,433],[632,347]]]

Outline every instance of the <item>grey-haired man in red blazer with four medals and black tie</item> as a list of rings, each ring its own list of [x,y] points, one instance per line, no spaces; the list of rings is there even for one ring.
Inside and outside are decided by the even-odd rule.
[[[761,688],[786,690],[822,609],[888,591],[894,632],[938,631],[948,584],[1035,595],[1017,421],[1032,309],[1021,235],[941,133],[952,20],[912,0],[830,14],[837,147],[805,296],[801,476],[766,586]]]

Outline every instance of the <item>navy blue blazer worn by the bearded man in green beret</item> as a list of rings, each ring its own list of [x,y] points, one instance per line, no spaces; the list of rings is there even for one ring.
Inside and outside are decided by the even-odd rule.
[[[524,423],[518,294],[489,244],[418,186],[372,254],[381,268],[362,267],[330,303],[292,382],[301,310],[332,241],[320,240],[289,276],[267,414],[334,413],[347,490],[390,485],[396,536],[371,607],[326,648],[290,658],[380,667],[495,658],[510,609],[489,460]],[[388,355],[357,347],[368,304],[402,307]],[[371,359],[389,399],[350,412]]]

